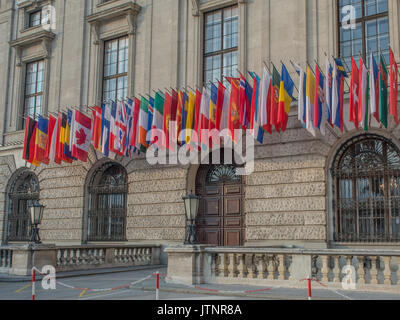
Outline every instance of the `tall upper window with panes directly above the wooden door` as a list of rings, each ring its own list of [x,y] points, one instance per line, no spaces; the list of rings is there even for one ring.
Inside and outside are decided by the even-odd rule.
[[[238,8],[212,11],[204,18],[204,84],[220,80],[226,85],[224,76],[238,75]]]

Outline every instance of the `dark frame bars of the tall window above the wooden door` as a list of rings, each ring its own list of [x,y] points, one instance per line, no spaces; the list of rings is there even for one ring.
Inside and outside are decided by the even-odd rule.
[[[229,49],[223,49],[223,46],[224,46],[223,45],[223,42],[224,42],[224,17],[225,17],[224,11],[226,9],[233,9],[233,8],[236,8],[238,10],[238,20],[239,20],[239,5],[238,4],[232,4],[232,5],[229,5],[229,6],[222,7],[222,8],[216,8],[216,9],[213,9],[213,10],[210,10],[210,11],[206,11],[206,12],[203,13],[203,22],[204,23],[203,23],[203,41],[202,41],[203,42],[203,52],[202,52],[202,54],[203,54],[203,70],[202,70],[203,81],[202,82],[203,82],[203,85],[206,86],[206,87],[209,87],[209,85],[210,85],[210,83],[206,83],[205,82],[206,81],[206,71],[207,71],[206,70],[206,60],[207,60],[207,58],[214,57],[214,56],[220,56],[221,57],[219,81],[221,81],[222,83],[224,82],[224,79],[223,79],[223,74],[224,74],[223,57],[224,57],[224,55],[228,54],[228,53],[232,53],[232,52],[237,52],[237,54],[238,54],[238,66],[239,66],[239,25],[238,25],[238,32],[237,32],[238,45],[236,47],[232,47],[232,48],[229,48]],[[215,13],[217,11],[221,11],[221,35],[220,35],[220,37],[221,37],[221,49],[218,50],[218,51],[213,51],[213,52],[206,53],[206,41],[207,41],[207,39],[206,39],[206,29],[207,29],[206,21],[207,21],[207,16],[210,15],[210,14],[213,14],[213,13]],[[215,80],[216,79],[212,79],[211,81],[214,83]]]

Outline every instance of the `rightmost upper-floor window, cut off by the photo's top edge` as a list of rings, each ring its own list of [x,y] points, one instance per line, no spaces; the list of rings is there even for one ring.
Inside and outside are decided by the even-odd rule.
[[[355,29],[342,27],[348,12],[342,12],[345,6],[353,6],[356,12]],[[382,53],[389,63],[389,18],[388,0],[339,0],[339,48],[348,68],[351,57],[361,53],[369,63],[369,53]]]

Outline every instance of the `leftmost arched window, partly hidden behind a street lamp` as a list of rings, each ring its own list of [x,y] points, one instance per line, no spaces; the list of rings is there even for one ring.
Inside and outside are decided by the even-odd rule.
[[[31,225],[28,205],[39,200],[39,182],[35,174],[24,171],[9,189],[7,241],[29,241]]]

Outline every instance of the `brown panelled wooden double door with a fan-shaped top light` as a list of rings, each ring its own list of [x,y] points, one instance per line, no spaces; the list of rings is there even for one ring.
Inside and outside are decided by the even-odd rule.
[[[201,165],[196,177],[201,197],[196,219],[201,244],[242,246],[245,242],[243,178],[234,165]]]

